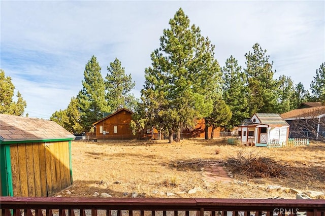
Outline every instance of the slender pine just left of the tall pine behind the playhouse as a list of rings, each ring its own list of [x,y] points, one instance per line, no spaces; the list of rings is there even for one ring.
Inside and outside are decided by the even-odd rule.
[[[246,75],[233,56],[226,59],[221,71],[223,73],[223,99],[232,112],[232,118],[222,126],[233,128],[249,117]]]

